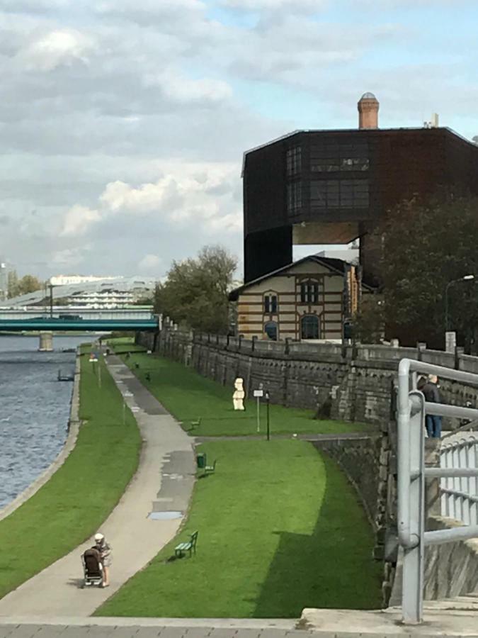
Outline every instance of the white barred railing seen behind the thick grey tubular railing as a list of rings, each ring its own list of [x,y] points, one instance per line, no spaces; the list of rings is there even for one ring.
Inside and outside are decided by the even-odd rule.
[[[443,442],[440,467],[478,468],[478,437],[460,432]],[[461,520],[465,525],[478,525],[478,472],[476,476],[448,476],[440,480],[441,514]]]

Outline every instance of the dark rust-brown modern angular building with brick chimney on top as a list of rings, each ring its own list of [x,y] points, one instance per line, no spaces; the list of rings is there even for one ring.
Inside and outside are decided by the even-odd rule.
[[[377,281],[370,233],[414,196],[478,194],[478,147],[449,128],[380,130],[365,94],[356,130],[299,130],[244,154],[244,279],[292,262],[292,245],[360,237],[365,281]]]

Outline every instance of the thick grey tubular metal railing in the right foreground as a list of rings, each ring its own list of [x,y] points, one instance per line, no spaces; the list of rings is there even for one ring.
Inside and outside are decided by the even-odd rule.
[[[423,620],[423,571],[426,545],[478,537],[478,525],[472,522],[450,530],[425,531],[426,478],[454,480],[472,478],[476,481],[478,476],[476,463],[474,466],[425,467],[425,416],[430,414],[474,420],[478,417],[478,410],[426,402],[423,393],[416,389],[416,373],[436,374],[444,379],[462,381],[470,386],[478,387],[478,374],[411,359],[402,359],[399,363],[398,536],[404,554],[402,617],[404,622],[410,624]],[[476,485],[476,482],[474,484]],[[455,486],[455,483],[453,485]],[[460,483],[460,492],[466,494],[467,502],[473,502],[469,489],[470,484],[466,481]],[[448,496],[453,496],[456,503],[458,498],[465,500],[463,496]]]

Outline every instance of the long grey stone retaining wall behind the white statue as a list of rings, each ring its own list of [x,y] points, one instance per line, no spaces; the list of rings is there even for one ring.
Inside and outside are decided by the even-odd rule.
[[[241,376],[250,395],[263,384],[273,403],[311,408],[324,417],[388,422],[399,359],[455,367],[478,374],[478,358],[415,348],[266,342],[224,335],[193,335],[165,322],[160,335],[140,333],[138,341],[203,376],[234,386]],[[443,379],[440,391],[451,405],[478,405],[478,388]],[[444,427],[455,427],[454,420]]]

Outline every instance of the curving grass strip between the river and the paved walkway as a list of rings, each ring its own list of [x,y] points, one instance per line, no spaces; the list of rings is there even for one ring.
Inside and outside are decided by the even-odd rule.
[[[136,471],[140,432],[130,410],[123,423],[123,398],[103,362],[93,370],[81,357],[80,394],[87,421],[76,447],[35,496],[0,521],[0,598],[96,532]]]

